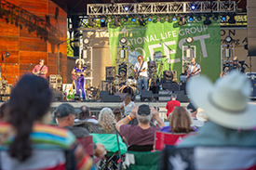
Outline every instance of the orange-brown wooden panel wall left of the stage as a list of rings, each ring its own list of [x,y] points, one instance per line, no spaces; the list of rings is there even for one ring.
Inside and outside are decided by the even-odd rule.
[[[66,83],[67,13],[63,6],[50,0],[0,1],[0,64],[8,84],[16,84],[31,63],[28,72],[32,72],[39,59],[46,60],[47,75],[60,72]]]

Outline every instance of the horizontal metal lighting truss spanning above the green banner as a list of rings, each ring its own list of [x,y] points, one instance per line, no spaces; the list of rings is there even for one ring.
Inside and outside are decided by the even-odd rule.
[[[235,13],[236,10],[236,1],[88,4],[88,16]]]

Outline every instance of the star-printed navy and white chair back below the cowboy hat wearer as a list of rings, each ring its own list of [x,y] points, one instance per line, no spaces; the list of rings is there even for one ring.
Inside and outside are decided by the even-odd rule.
[[[255,167],[256,149],[249,147],[166,147],[160,160],[161,170],[255,170]]]

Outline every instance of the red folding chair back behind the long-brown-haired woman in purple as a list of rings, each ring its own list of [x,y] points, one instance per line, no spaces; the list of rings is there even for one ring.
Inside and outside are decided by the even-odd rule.
[[[191,134],[191,133],[190,133]],[[164,150],[166,145],[174,146],[177,142],[182,141],[182,138],[187,136],[185,133],[166,133],[155,131],[155,150]]]

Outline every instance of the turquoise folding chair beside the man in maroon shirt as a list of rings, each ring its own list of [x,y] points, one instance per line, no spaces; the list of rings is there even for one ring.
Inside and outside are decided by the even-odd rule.
[[[100,129],[100,124],[91,124],[91,129]],[[123,142],[122,138],[115,134],[96,133],[96,130],[92,130],[94,133],[90,134],[93,137],[95,143],[101,143],[107,150],[105,160],[101,161],[98,169],[109,169],[116,167],[122,169],[123,157],[122,155],[128,150],[127,145]],[[99,132],[99,131],[98,131]],[[118,161],[116,157],[118,156]],[[118,164],[117,164],[118,163]]]

